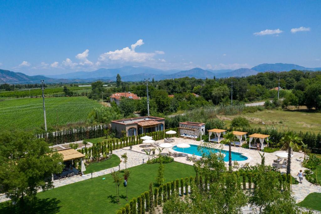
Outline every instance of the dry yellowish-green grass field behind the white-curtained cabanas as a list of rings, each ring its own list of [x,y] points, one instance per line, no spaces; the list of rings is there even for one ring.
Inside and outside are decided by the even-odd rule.
[[[231,124],[231,120],[235,117],[242,116],[249,120],[251,127],[264,128],[273,126],[279,130],[294,130],[294,131],[321,131],[321,113],[313,111],[282,111],[282,110],[264,110],[254,113],[244,113],[234,116],[220,116],[220,119],[225,120],[227,126]],[[264,122],[265,124],[262,124]]]

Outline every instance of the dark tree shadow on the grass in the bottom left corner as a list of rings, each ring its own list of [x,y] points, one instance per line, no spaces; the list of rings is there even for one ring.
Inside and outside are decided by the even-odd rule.
[[[32,213],[32,214],[49,214],[58,213],[61,206],[58,206],[60,200],[56,198],[35,198],[32,201],[25,201],[25,206],[21,208],[19,204],[13,205],[12,201],[0,203],[0,213]]]

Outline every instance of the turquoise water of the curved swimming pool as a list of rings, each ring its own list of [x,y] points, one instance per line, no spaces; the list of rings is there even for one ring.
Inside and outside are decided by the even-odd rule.
[[[193,144],[189,144],[189,145],[191,147],[184,148],[184,153],[202,156],[202,154],[199,151],[197,151],[197,145],[193,145]],[[178,152],[183,152],[182,148],[178,148],[176,146],[172,147],[172,149],[175,151],[178,151]],[[225,154],[224,161],[229,161],[229,151],[205,147],[205,149],[204,149],[205,153],[210,153],[210,151],[212,151],[213,153],[221,152],[221,153]],[[242,160],[247,160],[247,157],[244,155],[241,155],[241,153],[232,152],[232,161],[242,161]]]

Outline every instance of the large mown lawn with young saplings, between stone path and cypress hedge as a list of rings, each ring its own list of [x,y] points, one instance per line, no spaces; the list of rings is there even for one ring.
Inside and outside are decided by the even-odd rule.
[[[128,200],[148,190],[149,183],[154,182],[158,164],[143,164],[129,168]],[[195,176],[193,166],[172,162],[165,164],[166,182],[174,179]],[[102,178],[106,178],[102,180]],[[106,174],[97,178],[68,184],[62,187],[39,192],[40,199],[28,210],[30,213],[115,213],[126,201],[126,187],[120,186],[120,202],[115,202],[116,188],[112,176]],[[129,201],[128,201],[129,202]],[[10,202],[0,203],[0,213],[14,213],[8,207]]]

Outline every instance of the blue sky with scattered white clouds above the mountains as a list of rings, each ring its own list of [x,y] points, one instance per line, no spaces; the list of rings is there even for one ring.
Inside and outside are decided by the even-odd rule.
[[[1,1],[0,68],[48,75],[126,65],[321,67],[320,8],[321,1]]]

